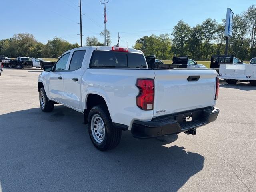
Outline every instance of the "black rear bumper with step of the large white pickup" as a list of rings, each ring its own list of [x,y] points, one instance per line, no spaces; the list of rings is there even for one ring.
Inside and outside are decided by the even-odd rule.
[[[153,138],[180,132],[190,132],[217,119],[219,109],[214,107],[179,112],[168,116],[153,118],[143,122],[135,120],[132,124],[132,136],[136,138]],[[186,117],[192,117],[187,121]]]

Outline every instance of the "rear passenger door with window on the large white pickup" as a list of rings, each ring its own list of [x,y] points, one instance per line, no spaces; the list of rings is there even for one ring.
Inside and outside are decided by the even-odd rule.
[[[68,69],[64,72],[64,94],[65,104],[76,109],[81,109],[81,80],[85,61],[86,48],[72,52]]]

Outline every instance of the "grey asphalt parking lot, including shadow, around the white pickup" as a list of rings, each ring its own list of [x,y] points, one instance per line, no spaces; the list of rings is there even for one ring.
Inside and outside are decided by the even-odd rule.
[[[0,192],[256,191],[256,88],[220,81],[218,119],[165,138],[122,132],[117,148],[94,148],[83,114],[43,113],[39,69],[0,77]],[[188,96],[189,98],[189,96]]]

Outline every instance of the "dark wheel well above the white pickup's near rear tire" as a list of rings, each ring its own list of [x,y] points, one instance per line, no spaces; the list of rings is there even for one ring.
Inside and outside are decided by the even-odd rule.
[[[108,109],[106,101],[102,96],[99,96],[97,94],[89,94],[86,100],[86,109],[84,110],[84,124],[88,123],[88,114],[90,110],[96,105],[105,105]]]

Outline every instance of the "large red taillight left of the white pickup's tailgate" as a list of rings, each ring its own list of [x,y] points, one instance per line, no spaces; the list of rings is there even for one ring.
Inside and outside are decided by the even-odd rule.
[[[153,110],[154,106],[154,79],[137,79],[136,86],[139,94],[136,104],[142,110]]]

